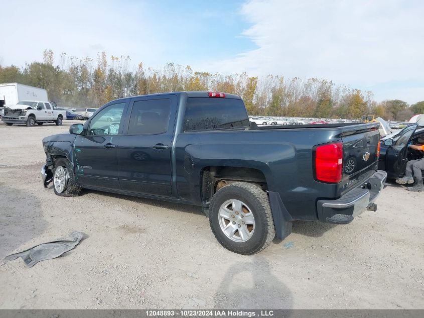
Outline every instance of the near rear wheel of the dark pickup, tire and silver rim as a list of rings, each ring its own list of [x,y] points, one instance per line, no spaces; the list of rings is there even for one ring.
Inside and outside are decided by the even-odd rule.
[[[260,252],[275,236],[267,194],[246,182],[232,183],[214,194],[209,224],[223,247],[243,255]]]

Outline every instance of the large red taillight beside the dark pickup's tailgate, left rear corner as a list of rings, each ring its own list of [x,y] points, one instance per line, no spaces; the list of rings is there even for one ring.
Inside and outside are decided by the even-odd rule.
[[[338,183],[343,173],[343,143],[315,146],[315,178],[318,181]]]

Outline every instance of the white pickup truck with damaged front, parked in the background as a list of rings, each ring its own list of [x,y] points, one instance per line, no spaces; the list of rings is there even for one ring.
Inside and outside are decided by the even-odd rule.
[[[26,124],[28,127],[55,123],[62,125],[66,118],[65,110],[56,110],[50,101],[23,100],[16,105],[9,105],[4,110],[2,121],[8,125]]]

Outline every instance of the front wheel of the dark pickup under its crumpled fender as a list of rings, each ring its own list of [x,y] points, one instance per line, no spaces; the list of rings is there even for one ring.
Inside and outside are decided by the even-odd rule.
[[[60,158],[55,162],[53,189],[60,196],[77,196],[81,192],[81,186],[76,183],[72,166],[67,159]]]

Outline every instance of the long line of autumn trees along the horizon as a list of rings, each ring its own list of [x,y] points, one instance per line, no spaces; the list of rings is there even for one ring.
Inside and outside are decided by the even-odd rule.
[[[1,66],[0,83],[18,82],[45,88],[61,107],[93,107],[121,97],[168,91],[212,90],[240,95],[249,115],[358,119],[375,115],[403,121],[424,113],[424,101],[409,105],[399,99],[376,102],[370,91],[337,85],[331,80],[285,78],[279,75],[252,77],[241,74],[198,72],[190,66],[167,63],[160,69],[136,67],[129,56],[105,52],[80,59],[62,52],[55,60],[52,50],[43,62],[23,67]]]

